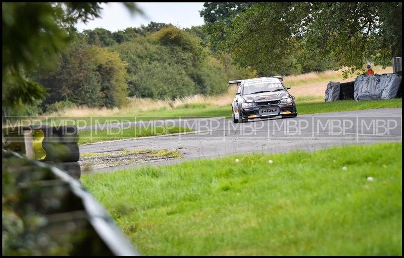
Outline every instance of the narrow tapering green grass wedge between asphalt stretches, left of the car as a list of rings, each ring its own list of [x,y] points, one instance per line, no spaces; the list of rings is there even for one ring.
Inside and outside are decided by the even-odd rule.
[[[145,136],[168,135],[176,133],[192,132],[187,127],[178,126],[132,126],[130,128],[111,128],[111,130],[80,131],[79,144],[96,143],[102,141],[122,140]]]

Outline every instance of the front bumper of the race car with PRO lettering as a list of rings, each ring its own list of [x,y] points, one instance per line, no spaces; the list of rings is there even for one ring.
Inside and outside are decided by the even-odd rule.
[[[274,110],[274,112],[265,113],[263,110]],[[278,105],[270,105],[270,106],[253,106],[247,108],[239,108],[239,117],[242,119],[254,119],[254,118],[264,118],[264,117],[273,117],[277,115],[293,115],[297,114],[297,109],[295,103],[288,104],[278,104]]]

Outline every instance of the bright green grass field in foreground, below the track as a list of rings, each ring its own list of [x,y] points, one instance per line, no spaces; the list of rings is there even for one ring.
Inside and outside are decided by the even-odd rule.
[[[82,182],[144,255],[402,254],[401,143],[240,154]]]

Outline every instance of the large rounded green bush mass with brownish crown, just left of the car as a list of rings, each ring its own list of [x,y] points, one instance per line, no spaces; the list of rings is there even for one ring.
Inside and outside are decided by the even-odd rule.
[[[220,63],[214,64],[200,39],[175,27],[112,47],[128,64],[129,96],[169,98],[227,90]]]

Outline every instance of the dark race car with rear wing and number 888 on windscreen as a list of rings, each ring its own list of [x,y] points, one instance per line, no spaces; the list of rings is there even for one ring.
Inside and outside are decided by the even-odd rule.
[[[229,81],[238,86],[231,103],[234,123],[248,119],[269,118],[281,115],[282,118],[296,117],[294,97],[282,83],[282,76],[261,77]]]

